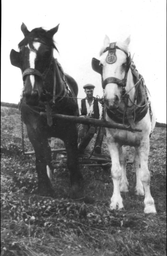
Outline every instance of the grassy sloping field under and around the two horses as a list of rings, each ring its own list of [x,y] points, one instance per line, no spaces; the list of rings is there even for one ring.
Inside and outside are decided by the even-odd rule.
[[[26,131],[26,149],[30,150]],[[135,171],[127,164],[130,191],[125,210],[110,211],[110,170],[82,166],[86,195],[96,203],[68,199],[66,165],[55,169],[55,199],[36,194],[34,157],[21,154],[18,110],[1,108],[1,254],[27,256],[166,255],[166,128],[156,127],[150,142],[151,192],[157,215],[143,213],[134,196]],[[107,151],[106,142],[103,150]]]

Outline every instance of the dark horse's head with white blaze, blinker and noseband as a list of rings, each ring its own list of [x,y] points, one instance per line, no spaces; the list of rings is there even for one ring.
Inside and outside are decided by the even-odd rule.
[[[11,64],[21,69],[24,82],[23,97],[27,104],[36,105],[42,95],[44,79],[50,68],[55,47],[53,35],[59,24],[46,31],[35,28],[31,32],[24,23],[21,31],[24,39],[18,44],[19,52],[14,49],[10,52]]]

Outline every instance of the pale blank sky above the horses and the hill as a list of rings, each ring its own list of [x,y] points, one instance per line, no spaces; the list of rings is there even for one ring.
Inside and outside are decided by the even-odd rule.
[[[23,39],[20,26],[51,29],[58,23],[54,56],[85,98],[83,85],[96,86],[103,96],[101,77],[91,67],[107,34],[111,42],[131,35],[130,52],[155,105],[158,122],[166,123],[166,0],[2,0],[1,101],[18,103],[23,88],[21,71],[9,54]]]

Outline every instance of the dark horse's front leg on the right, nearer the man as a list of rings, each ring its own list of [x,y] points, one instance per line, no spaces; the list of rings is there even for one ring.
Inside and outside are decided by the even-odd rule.
[[[81,198],[83,197],[83,177],[78,165],[77,130],[66,135],[64,144],[67,152],[67,167],[70,171],[70,197]]]

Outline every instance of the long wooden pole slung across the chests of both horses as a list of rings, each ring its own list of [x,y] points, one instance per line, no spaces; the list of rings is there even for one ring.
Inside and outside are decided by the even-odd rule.
[[[40,112],[41,116],[46,116],[45,112]],[[126,130],[126,131],[131,131],[131,132],[142,132],[141,129],[139,128],[134,128],[132,129],[131,127],[124,127],[123,124],[111,124],[108,121],[104,120],[99,120],[99,119],[94,119],[94,118],[88,118],[88,117],[78,117],[78,116],[68,116],[68,115],[61,115],[61,114],[53,114],[52,117],[56,119],[63,119],[66,120],[67,122],[73,122],[73,123],[78,123],[78,124],[92,124],[97,127],[107,127],[107,128],[113,128],[113,129],[121,129],[121,130]]]

